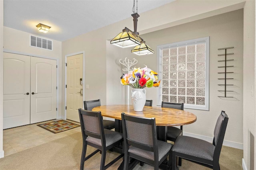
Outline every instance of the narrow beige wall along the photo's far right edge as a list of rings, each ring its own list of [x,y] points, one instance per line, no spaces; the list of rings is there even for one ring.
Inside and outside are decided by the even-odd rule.
[[[253,90],[253,92],[252,92]],[[253,96],[252,96],[253,93]],[[255,1],[244,5],[244,161],[256,169],[255,154]]]

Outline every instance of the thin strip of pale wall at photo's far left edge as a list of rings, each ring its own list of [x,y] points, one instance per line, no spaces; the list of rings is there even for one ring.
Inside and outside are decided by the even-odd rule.
[[[4,157],[3,151],[3,18],[4,3],[0,1],[0,158]]]

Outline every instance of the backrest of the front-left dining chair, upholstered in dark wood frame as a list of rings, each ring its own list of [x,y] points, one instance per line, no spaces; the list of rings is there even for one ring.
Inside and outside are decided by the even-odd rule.
[[[78,109],[82,137],[85,141],[87,136],[102,140],[102,146],[106,143],[104,128],[102,123],[102,116],[100,111],[88,111]]]

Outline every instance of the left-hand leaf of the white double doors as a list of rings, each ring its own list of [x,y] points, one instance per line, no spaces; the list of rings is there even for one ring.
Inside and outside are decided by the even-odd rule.
[[[3,129],[30,124],[30,56],[4,53]]]

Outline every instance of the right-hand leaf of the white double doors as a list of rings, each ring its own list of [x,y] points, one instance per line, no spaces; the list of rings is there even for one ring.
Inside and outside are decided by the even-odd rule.
[[[56,60],[31,57],[30,123],[56,119]]]

